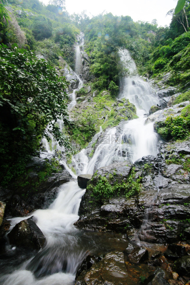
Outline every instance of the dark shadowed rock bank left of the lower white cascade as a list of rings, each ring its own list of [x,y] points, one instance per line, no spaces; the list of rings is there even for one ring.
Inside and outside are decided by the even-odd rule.
[[[62,170],[39,182],[38,173],[44,171],[45,163],[44,159],[34,157],[27,165],[32,171],[25,186],[1,189],[0,199],[6,203],[5,217],[24,217],[35,209],[47,208],[55,200],[58,187],[73,179],[67,170]]]

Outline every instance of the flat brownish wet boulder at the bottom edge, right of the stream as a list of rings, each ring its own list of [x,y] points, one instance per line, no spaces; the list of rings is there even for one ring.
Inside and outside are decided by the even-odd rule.
[[[124,264],[122,252],[108,253],[101,261],[92,265],[90,270],[82,272],[76,285],[126,285],[130,278]]]

